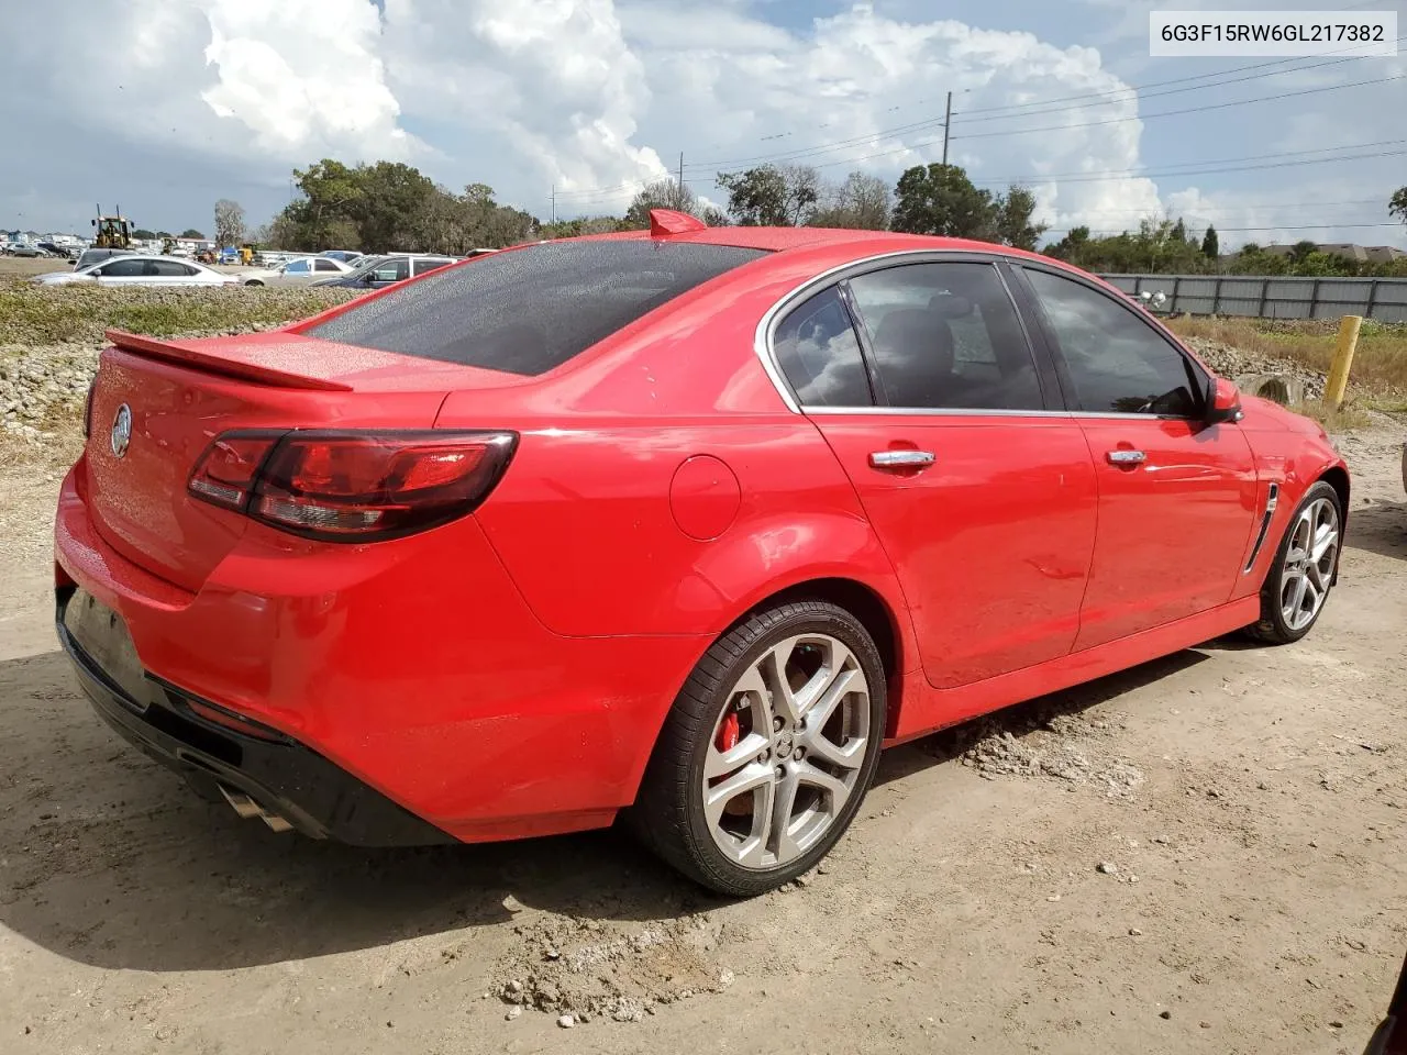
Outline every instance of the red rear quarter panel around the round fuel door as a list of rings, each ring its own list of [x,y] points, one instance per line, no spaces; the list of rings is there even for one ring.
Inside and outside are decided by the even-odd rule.
[[[449,395],[438,428],[522,435],[476,516],[547,627],[712,636],[771,594],[841,577],[881,596],[898,616],[899,651],[912,656],[902,592],[854,488],[754,350],[778,300],[854,255],[794,250],[730,271],[511,404],[491,392]],[[675,473],[699,456],[736,478],[736,512],[709,539],[687,535],[671,504]]]

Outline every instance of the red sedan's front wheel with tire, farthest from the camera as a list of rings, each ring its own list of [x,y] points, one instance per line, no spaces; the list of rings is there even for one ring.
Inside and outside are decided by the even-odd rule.
[[[1245,633],[1266,644],[1292,644],[1318,622],[1338,573],[1344,508],[1320,480],[1294,508],[1261,588],[1261,620]]]

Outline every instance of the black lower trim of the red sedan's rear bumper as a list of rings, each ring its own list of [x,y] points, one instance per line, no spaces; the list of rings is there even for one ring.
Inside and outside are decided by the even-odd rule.
[[[425,845],[453,838],[401,809],[317,751],[266,726],[252,736],[201,717],[208,701],[151,677],[145,699],[135,699],[89,656],[63,625],[72,589],[58,592],[55,626],[83,692],[98,716],[124,740],[166,765],[207,799],[249,796],[312,838],[366,847]],[[273,824],[272,824],[273,826]]]

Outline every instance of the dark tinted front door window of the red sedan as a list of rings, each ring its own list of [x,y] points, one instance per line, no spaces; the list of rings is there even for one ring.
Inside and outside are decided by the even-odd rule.
[[[1079,409],[1195,418],[1188,359],[1137,312],[1088,286],[1048,271],[1027,279],[1050,325]]]

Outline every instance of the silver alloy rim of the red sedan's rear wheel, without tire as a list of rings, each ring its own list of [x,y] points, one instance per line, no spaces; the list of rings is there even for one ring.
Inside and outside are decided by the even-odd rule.
[[[704,813],[715,845],[760,871],[803,855],[860,791],[870,736],[870,685],[846,644],[808,633],[767,648],[709,737]]]

